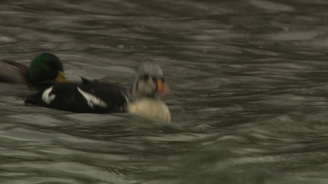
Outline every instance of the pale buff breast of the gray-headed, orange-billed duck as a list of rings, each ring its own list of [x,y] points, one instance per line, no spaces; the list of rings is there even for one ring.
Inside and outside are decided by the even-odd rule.
[[[171,122],[169,107],[159,100],[142,99],[129,105],[128,110],[132,114],[156,121]]]

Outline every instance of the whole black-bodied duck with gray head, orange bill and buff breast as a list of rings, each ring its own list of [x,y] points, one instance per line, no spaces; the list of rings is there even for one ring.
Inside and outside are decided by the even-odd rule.
[[[77,113],[129,112],[160,122],[171,122],[171,113],[162,96],[171,95],[161,67],[155,62],[142,62],[130,89],[113,83],[81,78],[82,83],[57,83],[28,96],[25,104]]]

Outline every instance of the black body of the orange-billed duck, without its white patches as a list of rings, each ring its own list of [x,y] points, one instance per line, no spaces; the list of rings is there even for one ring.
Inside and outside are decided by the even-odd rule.
[[[84,93],[91,94],[96,99],[105,102],[106,106],[95,103],[93,105],[88,104],[87,99],[80,93],[78,88],[83,90]],[[114,84],[91,82],[86,79],[83,79],[82,84],[58,83],[52,86],[49,96],[55,95],[55,97],[49,104],[42,98],[44,91],[29,96],[25,103],[78,113],[111,113],[126,112],[127,110],[126,96],[128,91]]]

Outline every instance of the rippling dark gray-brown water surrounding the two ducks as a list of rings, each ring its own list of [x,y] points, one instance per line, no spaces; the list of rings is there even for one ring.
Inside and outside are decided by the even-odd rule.
[[[0,183],[328,183],[328,2],[2,1],[0,56],[129,86],[155,60],[172,124],[25,106],[0,84]]]

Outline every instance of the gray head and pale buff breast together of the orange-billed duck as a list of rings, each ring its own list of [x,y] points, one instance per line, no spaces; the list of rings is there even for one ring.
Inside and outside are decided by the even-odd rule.
[[[160,97],[171,96],[173,93],[165,82],[161,67],[155,62],[143,62],[132,81],[132,100],[127,111],[148,119],[170,123],[171,112]]]

